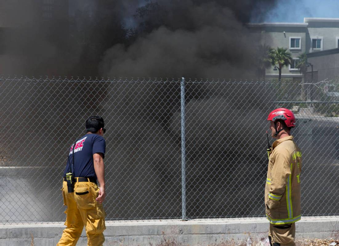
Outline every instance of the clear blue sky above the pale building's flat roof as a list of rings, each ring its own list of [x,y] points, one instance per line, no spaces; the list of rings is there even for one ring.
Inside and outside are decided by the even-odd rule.
[[[265,22],[304,22],[304,17],[339,18],[339,0],[284,0]]]

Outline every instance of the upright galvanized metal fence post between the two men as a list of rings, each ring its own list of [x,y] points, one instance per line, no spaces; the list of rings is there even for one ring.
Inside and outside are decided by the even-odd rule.
[[[182,220],[186,220],[186,134],[185,134],[185,78],[180,82],[181,99],[181,199]]]

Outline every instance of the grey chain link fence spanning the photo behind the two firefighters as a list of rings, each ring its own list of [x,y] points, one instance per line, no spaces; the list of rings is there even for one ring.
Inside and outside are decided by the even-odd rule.
[[[107,129],[106,220],[262,217],[266,116],[280,106],[296,112],[302,214],[339,215],[337,87],[1,76],[1,223],[64,221],[67,150],[90,115]]]

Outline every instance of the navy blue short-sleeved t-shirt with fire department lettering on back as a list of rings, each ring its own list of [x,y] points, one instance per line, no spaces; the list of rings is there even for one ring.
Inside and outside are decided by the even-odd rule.
[[[69,171],[69,163],[72,163],[72,148],[69,150],[64,177]],[[93,155],[101,153],[105,157],[106,142],[98,134],[86,134],[77,140],[74,147],[74,175],[73,177],[94,177],[97,175],[94,171]]]

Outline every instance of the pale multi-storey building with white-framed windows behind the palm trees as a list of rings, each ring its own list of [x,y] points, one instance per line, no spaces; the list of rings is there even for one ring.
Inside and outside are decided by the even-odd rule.
[[[259,44],[284,47],[291,52],[293,62],[282,69],[282,78],[303,77],[296,68],[300,54],[335,49],[339,44],[339,18],[304,18],[304,23],[249,23],[248,27]],[[278,75],[273,66],[266,70],[268,79]]]

